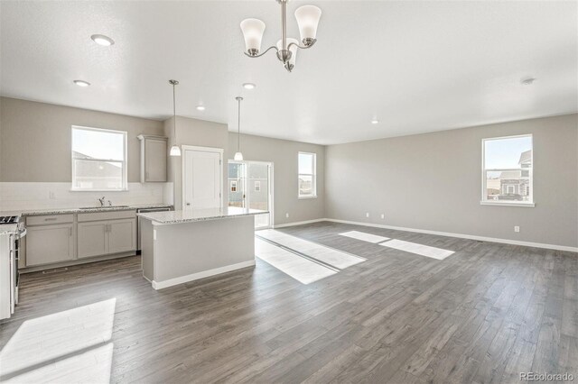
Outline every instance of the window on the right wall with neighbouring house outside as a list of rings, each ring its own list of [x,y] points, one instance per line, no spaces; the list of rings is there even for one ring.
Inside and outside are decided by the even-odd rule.
[[[534,206],[532,135],[482,140],[481,204]]]

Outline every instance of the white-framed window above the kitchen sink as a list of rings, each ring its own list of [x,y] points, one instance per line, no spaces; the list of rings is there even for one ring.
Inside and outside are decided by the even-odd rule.
[[[126,132],[72,126],[72,190],[126,189]]]

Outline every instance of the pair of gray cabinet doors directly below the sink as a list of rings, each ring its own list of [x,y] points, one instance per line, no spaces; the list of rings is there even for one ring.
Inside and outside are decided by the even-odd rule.
[[[136,219],[79,223],[79,259],[136,250]]]

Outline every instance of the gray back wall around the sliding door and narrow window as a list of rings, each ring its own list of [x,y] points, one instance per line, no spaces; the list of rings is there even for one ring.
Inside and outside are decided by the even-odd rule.
[[[228,133],[227,158],[233,159],[236,151],[237,133]],[[299,151],[317,154],[317,198],[297,198],[297,154]],[[324,146],[241,134],[241,152],[245,160],[274,163],[275,225],[324,217]],[[289,214],[289,218],[285,217],[285,213]]]

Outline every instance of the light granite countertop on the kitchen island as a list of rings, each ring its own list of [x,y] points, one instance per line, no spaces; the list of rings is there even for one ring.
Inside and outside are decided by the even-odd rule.
[[[218,220],[229,217],[268,214],[269,211],[238,207],[190,209],[186,211],[151,212],[138,216],[158,224],[193,223],[203,220]]]

